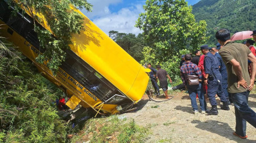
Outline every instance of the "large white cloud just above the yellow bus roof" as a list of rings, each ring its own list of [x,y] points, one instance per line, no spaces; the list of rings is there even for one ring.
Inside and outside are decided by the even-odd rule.
[[[98,0],[94,0],[98,1]],[[111,0],[108,2],[98,1],[90,2],[94,5],[94,11],[90,13],[85,13],[82,11],[90,20],[93,21],[102,31],[106,34],[109,31],[118,31],[122,33],[142,33],[139,28],[135,28],[135,21],[137,21],[139,14],[144,12],[143,3],[138,5],[132,5],[130,7],[125,7],[118,12],[111,12],[109,10],[109,5],[114,5],[121,2],[120,0]]]

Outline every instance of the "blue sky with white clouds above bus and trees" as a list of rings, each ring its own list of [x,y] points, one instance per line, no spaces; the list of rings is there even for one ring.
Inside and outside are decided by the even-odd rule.
[[[188,5],[194,5],[200,0],[186,0]],[[92,12],[81,10],[106,34],[109,31],[119,33],[142,33],[134,27],[139,14],[144,12],[146,0],[88,0],[93,5]]]

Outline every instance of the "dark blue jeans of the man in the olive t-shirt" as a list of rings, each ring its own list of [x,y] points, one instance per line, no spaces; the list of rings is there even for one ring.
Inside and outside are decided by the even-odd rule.
[[[248,105],[250,91],[241,93],[230,93],[234,103],[236,115],[236,133],[246,136],[246,121],[256,128],[256,114]]]

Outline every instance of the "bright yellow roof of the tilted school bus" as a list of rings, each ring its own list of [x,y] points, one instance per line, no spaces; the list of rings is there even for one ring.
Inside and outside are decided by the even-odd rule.
[[[79,11],[80,12],[80,11]],[[73,34],[69,45],[79,57],[134,101],[143,96],[148,83],[146,68],[117,45],[84,14],[84,29]]]

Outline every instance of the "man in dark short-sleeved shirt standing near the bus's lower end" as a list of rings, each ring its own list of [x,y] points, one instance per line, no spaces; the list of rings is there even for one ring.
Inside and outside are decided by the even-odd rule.
[[[166,70],[163,70],[160,65],[156,66],[158,68],[158,71],[156,72],[156,82],[160,82],[160,87],[163,89],[164,94],[166,95],[166,99],[168,99],[167,89],[168,89],[168,82],[167,78],[170,79],[170,83],[172,83],[171,77],[168,75]]]

